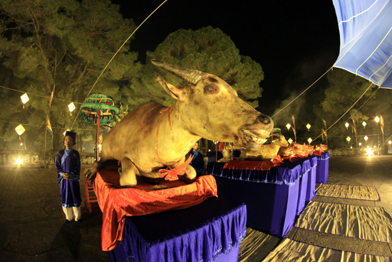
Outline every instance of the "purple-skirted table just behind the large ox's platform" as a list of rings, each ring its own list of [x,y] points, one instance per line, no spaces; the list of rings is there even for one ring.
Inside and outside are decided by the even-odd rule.
[[[225,163],[210,163],[218,196],[247,205],[247,226],[284,238],[294,226],[302,167],[277,166],[268,171],[224,169]]]

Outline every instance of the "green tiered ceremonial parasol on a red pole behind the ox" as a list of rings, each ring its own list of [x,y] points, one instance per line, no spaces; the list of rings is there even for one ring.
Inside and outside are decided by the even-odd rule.
[[[97,126],[97,161],[99,160],[99,126],[117,121],[115,116],[118,112],[118,108],[114,106],[113,98],[103,94],[88,96],[86,102],[81,105],[79,120],[83,121],[84,124],[95,124]]]

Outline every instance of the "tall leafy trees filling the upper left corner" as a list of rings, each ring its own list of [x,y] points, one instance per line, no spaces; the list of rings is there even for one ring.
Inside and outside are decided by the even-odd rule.
[[[133,21],[123,19],[119,7],[108,0],[2,0],[0,17],[0,66],[6,72],[0,86],[37,95],[30,95],[31,101],[21,110],[13,106],[21,94],[1,90],[9,98],[1,104],[2,111],[8,113],[0,126],[6,141],[18,138],[14,125],[4,123],[23,122],[31,125],[25,136],[43,149],[48,97],[54,89],[50,115],[53,149],[58,150],[66,128],[86,129],[74,121],[75,114],[70,116],[67,105],[71,101],[80,106],[89,91],[120,101],[118,81],[138,76],[137,54],[129,51],[128,43],[92,89],[115,51],[135,29]]]

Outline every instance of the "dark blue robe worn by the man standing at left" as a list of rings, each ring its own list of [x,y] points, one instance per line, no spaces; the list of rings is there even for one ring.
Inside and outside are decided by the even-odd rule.
[[[60,185],[61,205],[65,208],[81,206],[81,186],[79,185],[81,173],[81,158],[79,152],[70,148],[58,152],[56,160],[58,184]],[[63,173],[71,177],[63,179]]]

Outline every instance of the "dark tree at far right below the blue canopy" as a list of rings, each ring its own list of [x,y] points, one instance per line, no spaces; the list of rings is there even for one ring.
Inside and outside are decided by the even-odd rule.
[[[327,74],[329,81],[329,87],[325,90],[325,99],[321,103],[321,110],[317,110],[317,114],[322,116],[329,124],[333,124],[339,119],[349,108],[362,96],[359,102],[339,121],[336,126],[330,129],[329,133],[334,133],[334,136],[338,139],[329,140],[331,146],[340,147],[347,143],[345,141],[346,136],[354,134],[354,131],[347,131],[344,124],[349,120],[349,124],[352,126],[354,119],[359,131],[365,133],[363,121],[371,121],[375,116],[383,115],[384,119],[392,119],[391,114],[391,99],[392,91],[389,89],[378,89],[378,86],[374,85],[368,89],[371,85],[370,81],[356,76],[349,71],[342,69],[334,69],[331,73]],[[363,94],[366,91],[365,94]],[[386,130],[390,130],[390,121],[386,121]],[[370,125],[371,124],[371,125]],[[392,128],[392,126],[391,126]],[[369,123],[366,126],[367,133],[377,133],[379,126],[373,123]],[[354,134],[355,135],[355,134]]]

